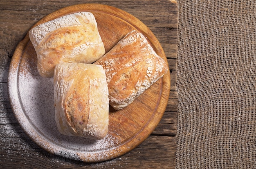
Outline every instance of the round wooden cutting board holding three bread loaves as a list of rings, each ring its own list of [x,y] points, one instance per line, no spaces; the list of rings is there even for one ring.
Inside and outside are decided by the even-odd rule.
[[[101,4],[79,4],[55,11],[38,24],[55,18],[88,11],[94,14],[106,52],[127,33],[137,30],[144,34],[156,53],[164,58],[157,38],[141,21],[129,13]],[[29,138],[40,147],[58,156],[100,162],[119,157],[143,142],[161,120],[170,93],[170,72],[124,109],[110,108],[109,131],[102,140],[63,136],[58,133],[54,115],[53,78],[39,76],[36,52],[28,34],[11,60],[8,87],[13,113]]]

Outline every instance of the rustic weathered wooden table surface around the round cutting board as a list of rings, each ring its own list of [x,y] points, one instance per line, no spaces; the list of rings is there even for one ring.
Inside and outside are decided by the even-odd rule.
[[[7,79],[17,44],[38,20],[73,4],[99,3],[122,9],[155,34],[171,72],[170,98],[164,116],[141,145],[119,158],[99,163],[66,159],[41,149],[13,115]],[[0,168],[175,168],[177,93],[177,2],[175,0],[1,0],[0,2]]]

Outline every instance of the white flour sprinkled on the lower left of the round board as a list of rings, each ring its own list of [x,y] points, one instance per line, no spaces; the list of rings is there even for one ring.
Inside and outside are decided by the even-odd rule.
[[[21,62],[20,67],[25,69],[18,73],[18,93],[23,112],[25,112],[31,126],[40,133],[39,135],[43,139],[49,142],[44,145],[46,149],[49,148],[61,156],[67,156],[68,158],[73,156],[71,158],[80,159],[85,158],[83,156],[86,154],[77,155],[77,151],[107,151],[121,143],[119,138],[114,138],[109,133],[102,140],[64,136],[59,133],[54,114],[53,78],[39,76],[36,66],[31,65],[35,65],[35,63],[29,63],[29,59],[23,59]],[[20,120],[21,123],[22,121]],[[112,131],[112,133],[115,133],[115,131]],[[117,133],[115,134],[118,135]],[[92,156],[91,158],[98,158],[100,160],[104,158],[103,156],[107,156],[107,154],[102,155],[102,157]]]

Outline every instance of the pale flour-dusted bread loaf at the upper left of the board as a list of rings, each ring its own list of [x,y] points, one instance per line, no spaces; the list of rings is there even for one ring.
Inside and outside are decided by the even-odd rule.
[[[97,22],[90,12],[79,12],[40,24],[29,31],[36,50],[38,72],[52,77],[60,62],[92,63],[105,54]]]

